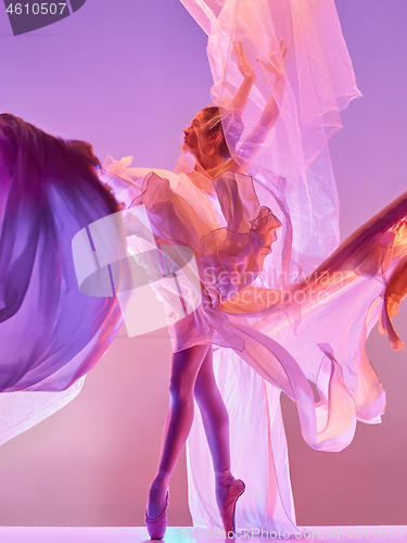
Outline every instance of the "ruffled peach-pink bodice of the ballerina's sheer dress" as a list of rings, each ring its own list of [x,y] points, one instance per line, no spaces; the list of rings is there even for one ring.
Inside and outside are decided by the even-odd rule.
[[[205,300],[219,306],[258,276],[281,224],[259,206],[252,177],[224,172],[212,186],[208,192],[186,174],[151,173],[133,204],[144,205],[161,240],[192,249]]]

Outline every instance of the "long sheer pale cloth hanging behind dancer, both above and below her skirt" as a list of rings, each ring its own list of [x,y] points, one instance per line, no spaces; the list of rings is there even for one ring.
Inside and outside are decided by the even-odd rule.
[[[268,205],[282,222],[279,235],[282,243],[277,243],[272,255],[266,258],[257,285],[288,287],[310,273],[339,243],[339,202],[326,143],[342,126],[339,111],[360,93],[334,2],[181,1],[208,35],[207,54],[214,77],[212,98],[222,108],[224,129],[231,155],[254,177],[262,204]],[[256,62],[256,59],[267,61],[270,49],[278,54],[278,43],[282,38],[288,47],[284,62],[288,79],[283,94],[275,88],[274,75]],[[242,81],[232,47],[232,42],[239,40],[256,72],[242,123],[233,122],[231,112],[232,97]],[[272,91],[279,118],[262,144],[251,149],[244,141]],[[247,155],[251,155],[249,162]],[[188,173],[189,164],[188,159],[180,161],[178,171]],[[257,326],[256,323],[254,318],[251,324]],[[291,337],[287,329],[278,334],[279,341],[288,348],[291,346]],[[218,351],[215,361],[220,387],[225,382],[221,368],[229,357],[230,365],[242,364],[230,351]],[[245,368],[245,371],[253,370]],[[238,451],[240,462],[233,460],[232,467],[237,477],[245,477],[247,489],[239,504],[238,520],[241,519],[241,526],[247,528],[290,527],[295,517],[279,393],[266,384],[258,387],[258,376],[246,379],[239,378],[240,375],[228,374],[227,382],[234,381],[233,388],[228,389],[234,390],[234,395],[231,392],[227,395],[228,409],[233,412],[237,408],[238,395],[244,397],[245,413],[253,414],[251,420],[268,419],[270,433],[257,432],[253,425],[244,426],[244,416],[234,422],[232,457]],[[202,444],[202,427],[198,425],[196,421],[188,442],[190,508],[194,523],[206,525],[209,518],[218,523],[215,502],[209,497],[212,489],[205,488],[206,481],[211,480],[211,462],[207,447]],[[245,431],[240,428],[245,428]],[[250,460],[254,450],[264,452],[263,462]],[[266,496],[274,498],[266,500]],[[200,503],[203,500],[205,506]]]

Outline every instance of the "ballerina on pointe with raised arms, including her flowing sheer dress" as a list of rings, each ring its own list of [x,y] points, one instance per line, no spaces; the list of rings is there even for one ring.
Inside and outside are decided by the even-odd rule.
[[[155,287],[160,299],[168,306],[174,355],[170,406],[145,510],[145,523],[153,539],[161,539],[165,533],[168,484],[192,427],[194,400],[212,455],[222,527],[227,534],[236,532],[236,504],[245,485],[231,473],[229,415],[214,375],[212,344],[233,349],[259,376],[292,397],[297,404],[304,439],[315,449],[328,451],[339,451],[352,441],[356,417],[378,421],[383,412],[383,391],[367,359],[361,358],[359,364],[359,361],[346,361],[346,357],[343,361],[340,356],[338,362],[335,356],[342,354],[341,350],[332,348],[338,339],[332,337],[331,323],[336,320],[339,325],[340,317],[343,320],[343,307],[346,304],[348,307],[349,296],[355,298],[355,288],[367,304],[371,326],[378,304],[373,313],[369,307],[374,305],[372,302],[381,290],[380,283],[371,277],[386,274],[382,326],[387,329],[393,346],[402,346],[392,336],[395,332],[387,310],[405,293],[405,285],[402,287],[406,265],[405,197],[343,243],[310,276],[285,289],[265,288],[255,282],[262,278],[265,257],[271,251],[281,223],[268,207],[259,207],[245,166],[255,160],[279,117],[276,96],[284,91],[287,48],[281,41],[279,54],[270,52],[269,61],[262,63],[275,75],[275,93],[267,101],[258,124],[241,144],[244,160],[238,163],[229,157],[231,149],[226,143],[222,126],[227,126],[229,136],[241,131],[240,115],[254,83],[254,71],[246,61],[242,43],[233,46],[243,83],[228,112],[217,106],[205,108],[185,130],[185,149],[195,161],[188,175],[129,168],[125,161],[124,166],[119,163],[106,166],[109,172],[104,177],[116,188],[120,187],[119,179],[122,189],[126,184],[132,189],[138,187],[141,194],[132,200],[130,207],[145,206],[151,231],[164,258],[168,258],[165,250],[168,243],[186,245],[193,251],[202,288],[202,293],[195,293],[202,295],[199,307],[187,314],[185,306],[178,303],[177,315],[174,291],[165,285]],[[281,96],[279,98],[281,100]],[[126,228],[129,239],[142,237],[133,224],[127,222]],[[383,252],[381,248],[384,247]],[[389,258],[393,260],[392,264]],[[156,280],[161,269],[152,265],[149,272]],[[181,272],[179,267],[177,272]],[[181,296],[187,299],[188,294],[181,291]],[[180,312],[179,307],[182,307]],[[332,316],[327,319],[330,312]],[[260,317],[256,329],[242,324],[246,317]],[[360,333],[359,319],[355,317],[355,321]],[[352,329],[347,313],[344,326]],[[290,337],[291,352],[288,352],[272,338],[284,338],[291,328],[296,337]],[[342,338],[339,340],[340,344]],[[287,339],[280,341],[288,343]],[[293,353],[297,359],[293,358]],[[311,363],[309,353],[315,356]],[[359,367],[353,366],[355,362]],[[306,378],[317,384],[321,397],[317,404]],[[364,381],[365,390],[360,388]],[[279,492],[287,492],[287,489],[279,489]],[[285,516],[290,521],[290,514]],[[295,531],[292,520],[291,530]]]

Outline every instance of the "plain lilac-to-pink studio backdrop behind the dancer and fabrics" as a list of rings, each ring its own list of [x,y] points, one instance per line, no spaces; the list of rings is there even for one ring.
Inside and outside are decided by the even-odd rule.
[[[343,239],[406,189],[406,0],[336,0],[364,98],[331,140]],[[0,9],[0,111],[100,157],[171,169],[182,128],[209,101],[206,37],[177,0],[87,0],[73,16],[13,37]],[[407,305],[407,304],[406,304]],[[407,340],[407,306],[396,328]],[[283,399],[300,525],[407,523],[406,352],[373,331],[368,354],[387,391],[383,424],[317,453]],[[125,330],[78,399],[0,447],[0,525],[142,526],[168,404],[165,330]],[[239,475],[239,473],[237,473]],[[169,525],[188,526],[182,457]]]

